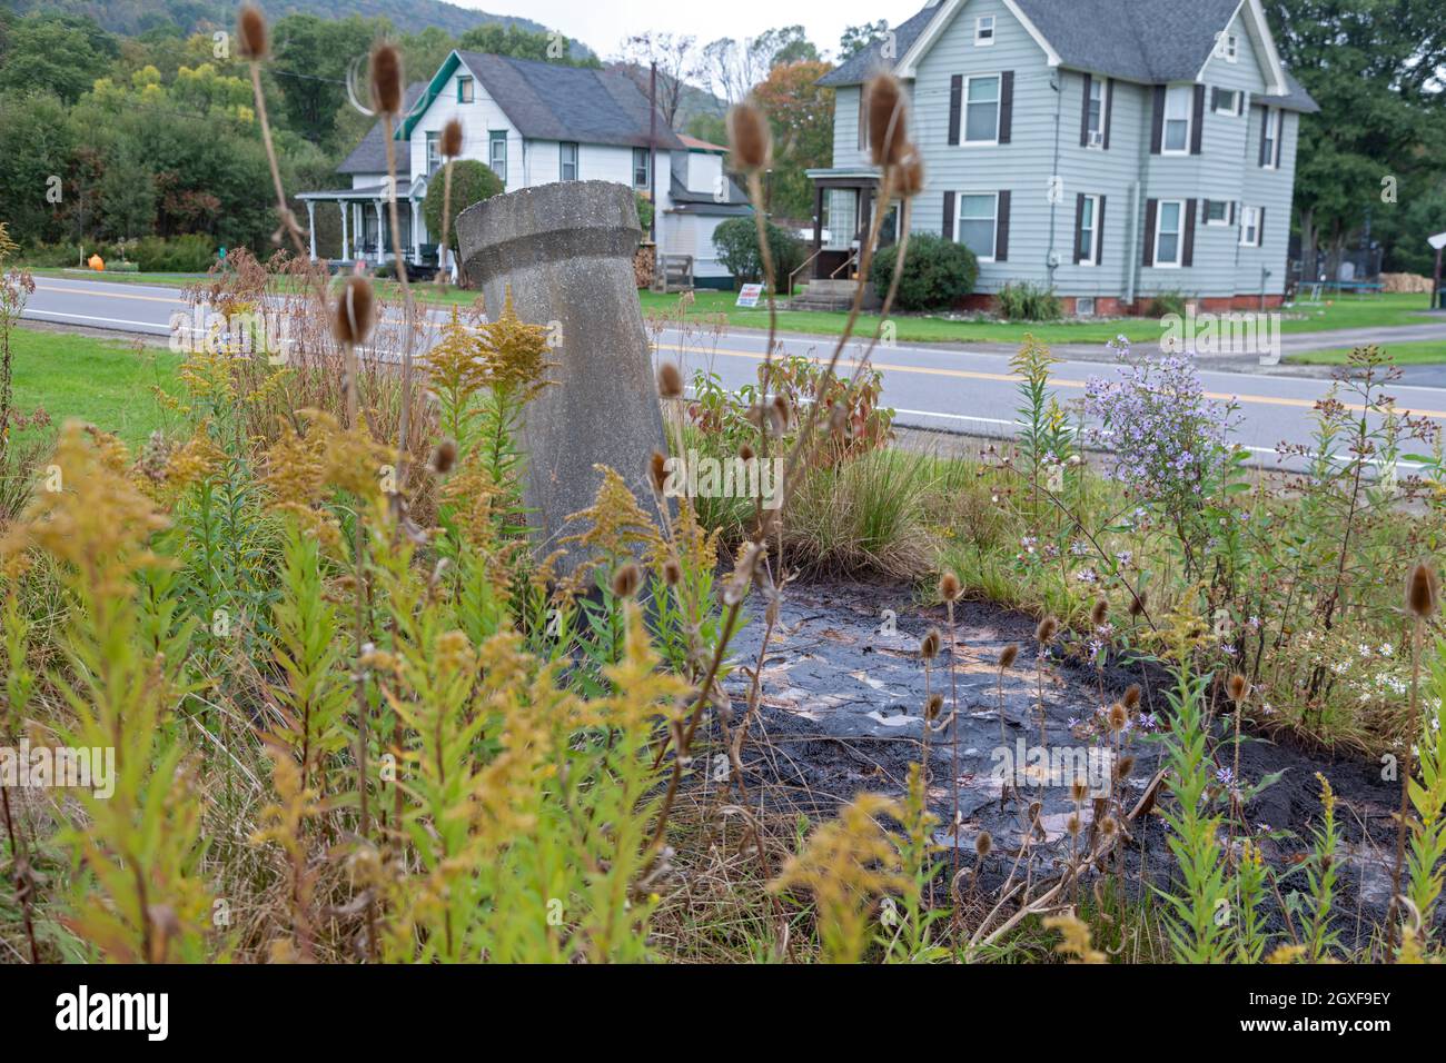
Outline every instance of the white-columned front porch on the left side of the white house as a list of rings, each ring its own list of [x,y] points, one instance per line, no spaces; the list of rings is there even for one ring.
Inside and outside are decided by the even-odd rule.
[[[422,220],[422,200],[427,197],[425,181],[398,181],[396,208],[402,230],[402,262],[409,269],[437,269],[437,244],[428,242],[427,223]],[[333,188],[301,192],[298,200],[307,207],[307,229],[311,236],[311,259],[317,253],[317,205],[335,204],[341,214],[341,247],[337,257],[327,257],[334,266],[348,266],[357,262],[382,266],[396,262],[396,247],[392,240],[390,188],[367,185],[362,188]]]

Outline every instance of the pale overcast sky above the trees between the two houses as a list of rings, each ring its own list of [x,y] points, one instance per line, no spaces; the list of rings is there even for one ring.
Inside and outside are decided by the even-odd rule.
[[[750,38],[765,29],[800,23],[820,51],[839,49],[844,26],[888,19],[898,25],[924,0],[451,0],[492,14],[518,14],[581,40],[604,59],[623,38],[656,30],[691,33],[698,43]]]

